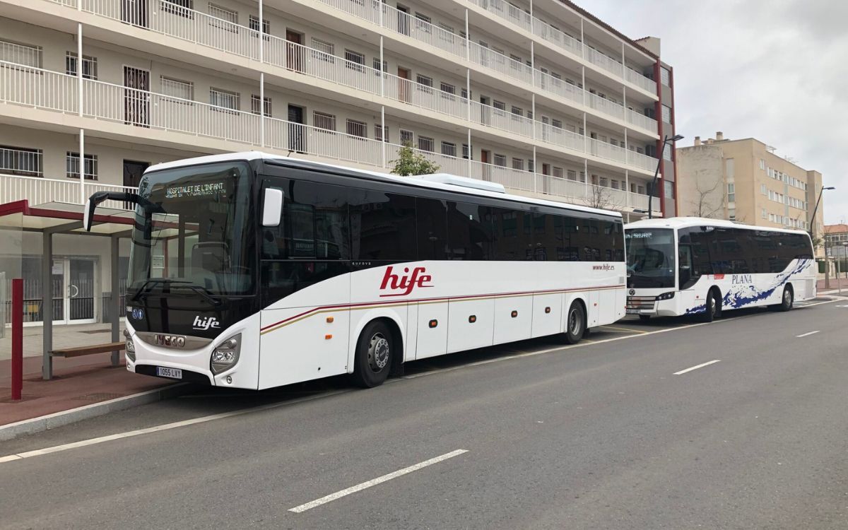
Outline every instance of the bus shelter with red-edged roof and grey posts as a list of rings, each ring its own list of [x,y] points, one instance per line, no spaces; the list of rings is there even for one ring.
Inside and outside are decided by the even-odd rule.
[[[110,201],[114,203],[114,201]],[[120,285],[119,278],[119,240],[121,237],[130,237],[133,215],[131,210],[123,204],[109,204],[98,208],[98,214],[94,216],[91,232],[83,228],[83,212],[85,207],[80,204],[46,203],[31,206],[30,201],[21,200],[7,204],[0,204],[0,243],[3,244],[3,253],[12,255],[12,259],[6,259],[3,272],[6,279],[20,277],[20,259],[14,259],[14,253],[23,252],[20,243],[25,232],[37,232],[42,235],[42,377],[45,380],[53,377],[53,293],[51,286],[51,275],[53,267],[53,236],[58,234],[69,234],[78,237],[109,237],[111,240],[111,296],[109,298],[109,310],[113,315],[111,320],[112,342],[120,340]],[[117,206],[116,208],[114,206]],[[5,282],[3,282],[5,284]],[[0,293],[2,295],[2,293]],[[3,304],[5,305],[5,304]],[[117,365],[120,352],[112,352],[112,364]]]

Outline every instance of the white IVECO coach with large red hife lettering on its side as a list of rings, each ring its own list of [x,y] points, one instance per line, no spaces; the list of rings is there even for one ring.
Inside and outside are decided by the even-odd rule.
[[[458,176],[262,153],[149,168],[126,293],[129,371],[232,388],[562,334],[624,315],[620,214]]]

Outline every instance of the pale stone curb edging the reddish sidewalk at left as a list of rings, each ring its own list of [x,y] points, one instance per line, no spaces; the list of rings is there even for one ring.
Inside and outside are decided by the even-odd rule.
[[[154,388],[147,392],[133,393],[121,398],[101,401],[100,403],[86,404],[76,409],[62,410],[61,412],[54,412],[46,416],[16,421],[0,426],[0,441],[11,440],[25,434],[47,431],[48,429],[62,427],[76,421],[103,416],[117,410],[126,410],[142,404],[150,404],[162,401],[163,399],[174,398],[182,393],[186,393],[190,387],[190,383],[181,382],[164,388]]]

